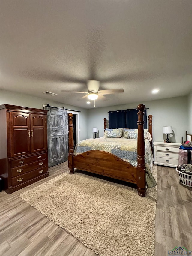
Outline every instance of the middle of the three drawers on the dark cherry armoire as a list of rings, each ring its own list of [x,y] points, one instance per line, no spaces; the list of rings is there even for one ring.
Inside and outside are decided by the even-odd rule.
[[[33,162],[30,164],[24,164],[24,165],[20,165],[18,167],[12,168],[11,169],[12,177],[18,176],[22,173],[27,173],[29,171],[35,170],[40,167],[44,167],[44,166],[46,166],[46,162],[47,162],[46,159],[42,159],[37,162]]]

